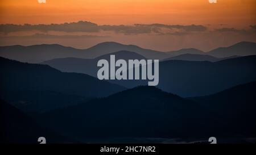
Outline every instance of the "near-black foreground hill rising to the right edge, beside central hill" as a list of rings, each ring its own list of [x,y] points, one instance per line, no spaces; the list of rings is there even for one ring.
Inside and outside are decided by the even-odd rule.
[[[256,136],[256,82],[238,85],[205,97],[191,98],[221,117],[223,131]]]

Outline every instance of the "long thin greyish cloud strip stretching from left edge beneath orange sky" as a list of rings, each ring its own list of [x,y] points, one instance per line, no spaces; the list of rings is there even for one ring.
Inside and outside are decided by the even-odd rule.
[[[113,31],[115,33],[123,33],[125,35],[137,35],[143,33],[156,33],[164,34],[170,33],[185,33],[185,32],[203,32],[207,27],[201,25],[167,25],[167,24],[134,24],[131,26],[126,25],[97,25],[91,22],[72,22],[63,24],[0,24],[0,32],[8,34],[10,32],[18,31],[61,31],[61,32],[100,32],[100,31]]]

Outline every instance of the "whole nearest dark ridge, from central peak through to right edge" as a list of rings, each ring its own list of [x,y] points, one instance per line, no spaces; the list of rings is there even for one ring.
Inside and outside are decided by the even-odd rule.
[[[38,120],[86,143],[110,143],[114,139],[120,142],[127,137],[133,141],[146,137],[184,140],[207,139],[209,135],[233,139],[254,137],[255,83],[188,99],[156,87],[139,86],[40,114]],[[240,92],[251,93],[238,95]],[[232,118],[235,119],[230,122]]]

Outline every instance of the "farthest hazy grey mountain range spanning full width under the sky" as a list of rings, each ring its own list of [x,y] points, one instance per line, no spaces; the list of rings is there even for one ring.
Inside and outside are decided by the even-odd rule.
[[[231,45],[230,47],[217,48],[209,52],[203,52],[194,48],[180,49],[178,51],[171,52],[160,52],[151,49],[144,49],[136,45],[124,45],[109,41],[94,45],[88,49],[76,49],[57,44],[31,45],[27,47],[21,45],[5,46],[0,47],[0,56],[22,62],[39,63],[55,58],[67,57],[93,59],[108,53],[130,51],[142,55],[148,59],[163,60],[165,58],[183,54],[209,55],[218,58],[256,55],[255,48],[256,43],[243,41]]]

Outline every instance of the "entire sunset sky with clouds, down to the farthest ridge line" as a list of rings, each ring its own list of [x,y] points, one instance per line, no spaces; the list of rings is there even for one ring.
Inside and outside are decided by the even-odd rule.
[[[256,41],[256,1],[1,0],[0,24],[0,45],[88,48],[117,41],[158,51],[209,51]]]

